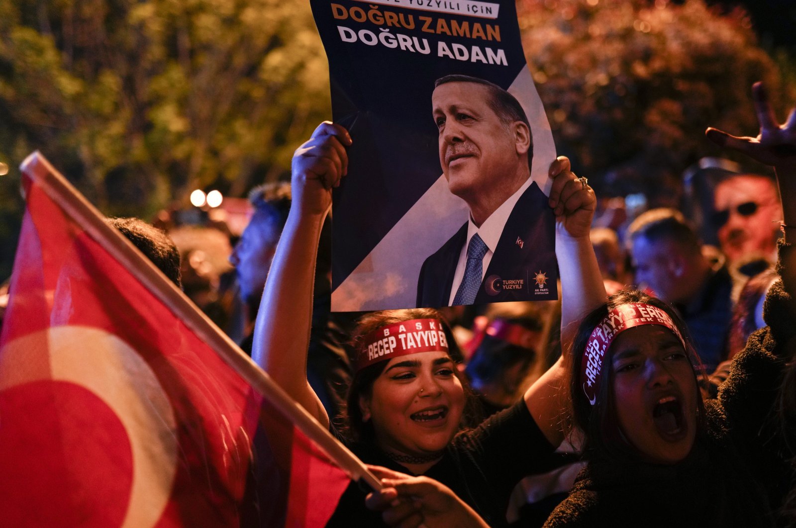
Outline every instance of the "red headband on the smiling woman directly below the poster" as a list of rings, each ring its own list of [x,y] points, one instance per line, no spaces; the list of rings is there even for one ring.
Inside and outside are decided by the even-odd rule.
[[[354,370],[418,352],[448,351],[443,325],[436,319],[412,319],[388,324],[365,336]]]

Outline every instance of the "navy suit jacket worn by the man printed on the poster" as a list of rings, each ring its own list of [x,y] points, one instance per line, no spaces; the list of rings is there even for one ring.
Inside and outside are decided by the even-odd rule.
[[[506,220],[474,304],[556,299],[556,218],[548,197],[534,181]],[[417,306],[447,306],[467,224],[426,258],[417,281]],[[544,274],[539,285],[537,273]]]

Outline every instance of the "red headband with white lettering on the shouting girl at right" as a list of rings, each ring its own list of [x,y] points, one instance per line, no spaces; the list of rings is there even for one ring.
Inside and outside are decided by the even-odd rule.
[[[685,348],[683,336],[672,322],[672,318],[657,306],[631,302],[611,310],[591,332],[583,350],[583,361],[580,363],[580,383],[591,405],[597,401],[597,387],[603,374],[603,356],[611,346],[611,342],[619,332],[644,324],[657,324],[669,328]]]

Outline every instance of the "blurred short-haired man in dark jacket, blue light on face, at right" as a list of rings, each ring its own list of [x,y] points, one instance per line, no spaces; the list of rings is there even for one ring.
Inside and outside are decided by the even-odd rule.
[[[726,355],[732,319],[732,278],[702,254],[696,232],[680,212],[651,209],[628,229],[635,281],[676,305],[708,372]]]

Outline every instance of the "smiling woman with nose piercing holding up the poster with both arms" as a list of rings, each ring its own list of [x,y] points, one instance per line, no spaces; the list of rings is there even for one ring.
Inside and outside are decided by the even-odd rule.
[[[318,233],[331,189],[345,175],[350,144],[343,127],[324,122],[296,150],[293,204],[268,275],[252,354],[322,424],[329,424],[329,417],[306,381],[312,277]],[[568,324],[606,297],[588,237],[594,193],[569,170],[564,157],[553,161],[550,176],[556,253],[565,278],[566,339],[572,336]],[[580,255],[587,255],[587,262],[576,268],[584,260]],[[553,451],[563,440],[565,405],[559,396],[568,371],[560,360],[521,402],[469,429],[469,390],[449,353],[443,324],[433,309],[362,317],[351,339],[356,357],[347,412],[334,429],[361,460],[437,479],[490,526],[505,526],[515,485],[558,464]],[[380,514],[365,508],[365,492],[352,485],[327,526],[381,524]]]

